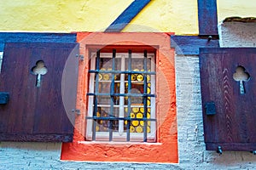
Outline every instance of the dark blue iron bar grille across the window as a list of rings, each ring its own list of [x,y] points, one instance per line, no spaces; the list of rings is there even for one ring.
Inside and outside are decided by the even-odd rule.
[[[93,106],[93,116],[86,116],[86,119],[92,119],[92,140],[96,140],[96,121],[97,120],[107,120],[108,123],[108,133],[109,133],[109,141],[113,140],[113,121],[127,121],[126,124],[126,141],[130,141],[131,138],[131,122],[132,121],[143,121],[143,142],[147,142],[147,127],[148,122],[153,121],[156,122],[155,118],[148,118],[147,117],[147,111],[148,111],[148,105],[147,105],[147,99],[148,97],[155,97],[155,94],[148,94],[147,88],[148,88],[148,80],[147,75],[155,75],[154,71],[147,71],[147,58],[148,53],[147,50],[144,50],[143,53],[143,70],[144,71],[132,71],[131,69],[131,49],[128,50],[128,71],[115,71],[115,58],[116,58],[116,50],[113,49],[113,56],[112,56],[112,70],[111,71],[101,71],[100,70],[100,50],[97,50],[96,52],[96,70],[90,70],[89,73],[95,73],[96,74],[96,81],[95,81],[95,93],[88,93],[87,95],[94,96],[94,106]],[[111,87],[110,87],[110,93],[99,93],[99,74],[100,73],[110,73],[112,75],[111,79]],[[127,94],[116,94],[114,93],[114,75],[115,74],[128,74],[128,93]],[[143,80],[143,94],[131,94],[131,74],[142,74],[144,78]],[[96,116],[96,113],[98,111],[98,101],[97,96],[110,96],[110,112],[108,113],[108,116]],[[117,117],[113,116],[113,105],[114,105],[114,96],[122,96],[122,97],[128,97],[128,116],[126,117]],[[143,118],[131,118],[131,97],[143,97]]]

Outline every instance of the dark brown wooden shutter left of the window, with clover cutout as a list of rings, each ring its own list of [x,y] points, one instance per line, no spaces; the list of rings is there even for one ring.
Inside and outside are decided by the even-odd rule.
[[[0,105],[1,141],[68,142],[73,139],[77,93],[77,43],[9,42],[3,52],[0,92],[9,102]],[[44,61],[47,73],[32,68]]]

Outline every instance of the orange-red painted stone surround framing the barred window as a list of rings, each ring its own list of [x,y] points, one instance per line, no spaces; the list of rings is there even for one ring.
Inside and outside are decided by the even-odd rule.
[[[127,161],[177,163],[177,119],[175,93],[174,49],[170,45],[172,33],[154,32],[78,32],[80,54],[77,108],[72,143],[63,143],[63,161]],[[105,47],[105,48],[103,48]],[[117,48],[117,52],[155,51],[156,62],[156,143],[91,142],[84,139],[88,91],[89,51],[91,48]],[[142,48],[143,47],[143,48]]]

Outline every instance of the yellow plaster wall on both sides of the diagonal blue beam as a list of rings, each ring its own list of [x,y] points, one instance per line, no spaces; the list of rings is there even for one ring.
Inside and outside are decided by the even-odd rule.
[[[133,0],[1,0],[0,31],[104,31]],[[196,0],[152,0],[124,31],[197,34]]]

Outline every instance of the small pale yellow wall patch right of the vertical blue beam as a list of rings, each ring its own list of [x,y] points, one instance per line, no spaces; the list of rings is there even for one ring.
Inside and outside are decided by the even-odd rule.
[[[227,17],[256,17],[255,0],[217,0],[218,22]]]

